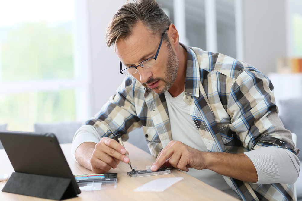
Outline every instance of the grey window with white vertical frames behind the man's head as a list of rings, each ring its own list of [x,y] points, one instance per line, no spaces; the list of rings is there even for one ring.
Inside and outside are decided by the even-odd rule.
[[[243,59],[241,0],[157,0],[175,24],[179,41]]]

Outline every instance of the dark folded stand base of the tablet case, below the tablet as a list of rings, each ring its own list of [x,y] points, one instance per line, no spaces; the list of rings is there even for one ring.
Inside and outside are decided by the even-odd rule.
[[[13,172],[3,192],[46,199],[63,200],[76,197],[70,178]]]

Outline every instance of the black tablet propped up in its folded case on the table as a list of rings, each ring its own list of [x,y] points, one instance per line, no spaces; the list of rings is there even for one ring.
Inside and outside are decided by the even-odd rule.
[[[0,140],[15,170],[3,192],[54,200],[81,193],[54,134],[0,131]]]

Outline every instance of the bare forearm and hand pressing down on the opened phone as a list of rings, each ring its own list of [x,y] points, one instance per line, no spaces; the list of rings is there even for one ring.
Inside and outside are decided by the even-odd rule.
[[[171,141],[162,149],[151,170],[156,171],[162,165],[167,168],[178,168],[182,171],[189,171],[189,168],[209,169],[241,181],[252,183],[258,181],[256,168],[245,154],[201,152],[180,141]]]

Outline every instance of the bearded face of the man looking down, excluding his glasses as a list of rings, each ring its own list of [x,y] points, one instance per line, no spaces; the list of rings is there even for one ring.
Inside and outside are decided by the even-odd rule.
[[[137,23],[130,37],[120,40],[116,52],[126,67],[137,66],[140,62],[154,57],[160,43],[160,37],[152,36],[142,23]],[[161,94],[173,85],[178,71],[178,57],[170,44],[162,42],[157,63],[150,68],[137,67],[132,76],[144,87]]]

